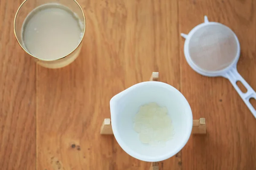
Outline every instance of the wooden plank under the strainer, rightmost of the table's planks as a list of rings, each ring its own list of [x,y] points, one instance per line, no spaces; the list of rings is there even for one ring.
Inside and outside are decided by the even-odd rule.
[[[241,45],[238,71],[256,90],[255,8],[253,0],[179,1],[179,33],[189,33],[204,21],[204,15],[236,33]],[[180,42],[183,51],[182,37]],[[180,71],[181,92],[191,105],[193,117],[207,119],[207,135],[191,136],[182,150],[183,170],[256,169],[256,119],[230,82],[196,73],[187,64],[183,52]]]

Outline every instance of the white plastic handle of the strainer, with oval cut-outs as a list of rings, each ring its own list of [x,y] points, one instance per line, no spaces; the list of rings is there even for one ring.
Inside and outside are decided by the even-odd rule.
[[[230,69],[230,71],[225,74],[225,77],[230,80],[233,87],[236,89],[238,94],[241,96],[241,98],[244,100],[244,103],[247,105],[247,107],[252,112],[253,116],[256,118],[256,110],[253,108],[253,105],[250,103],[250,98],[256,99],[256,93],[253,90],[253,88],[250,87],[250,85],[244,80],[243,77],[238,73],[236,68]],[[243,93],[238,85],[236,84],[237,81],[240,81],[244,87],[247,89],[246,93]]]

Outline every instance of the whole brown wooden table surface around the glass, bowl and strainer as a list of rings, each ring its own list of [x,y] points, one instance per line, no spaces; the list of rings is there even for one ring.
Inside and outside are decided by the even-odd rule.
[[[202,23],[229,26],[239,38],[238,71],[256,89],[254,0],[78,0],[87,19],[80,56],[61,69],[28,57],[13,34],[22,0],[0,0],[0,169],[148,170],[113,136],[99,135],[112,96],[152,71],[186,97],[207,135],[191,136],[160,170],[255,170],[256,119],[231,83],[197,74],[184,39]]]

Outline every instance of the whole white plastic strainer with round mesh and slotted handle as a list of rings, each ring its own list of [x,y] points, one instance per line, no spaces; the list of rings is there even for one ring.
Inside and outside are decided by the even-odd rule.
[[[236,68],[240,55],[236,34],[221,23],[209,22],[204,16],[204,23],[193,28],[189,34],[181,33],[181,36],[186,39],[184,54],[191,68],[204,76],[229,79],[256,118],[256,110],[249,101],[250,98],[256,99],[256,93]],[[246,93],[240,90],[237,81],[247,88]]]

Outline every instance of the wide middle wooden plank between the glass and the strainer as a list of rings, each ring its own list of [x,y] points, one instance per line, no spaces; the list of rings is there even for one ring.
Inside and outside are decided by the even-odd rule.
[[[37,70],[37,168],[148,169],[99,129],[111,97],[152,71],[180,88],[177,0],[78,2],[87,19],[81,55],[65,68]],[[181,168],[176,157],[160,167]]]

